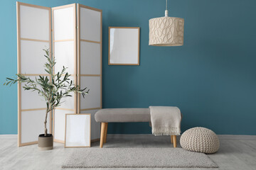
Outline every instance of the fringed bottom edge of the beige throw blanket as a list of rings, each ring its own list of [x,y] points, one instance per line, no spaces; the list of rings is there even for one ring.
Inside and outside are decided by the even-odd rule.
[[[155,136],[162,136],[162,135],[181,135],[180,128],[174,127],[154,127],[152,128],[152,134]]]

